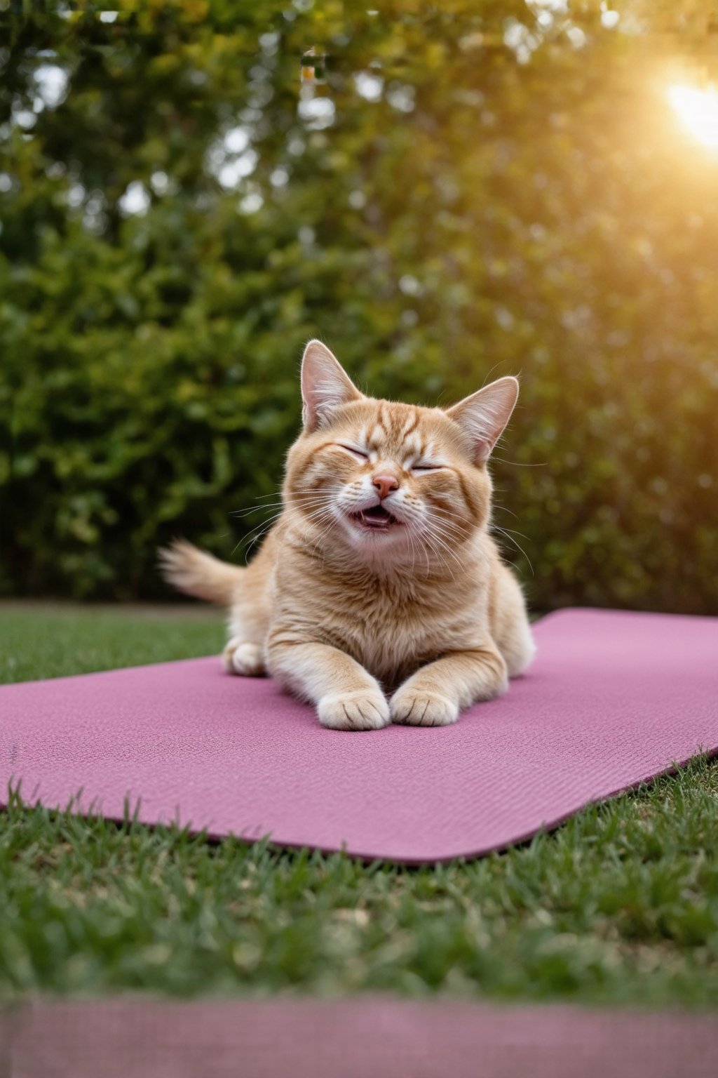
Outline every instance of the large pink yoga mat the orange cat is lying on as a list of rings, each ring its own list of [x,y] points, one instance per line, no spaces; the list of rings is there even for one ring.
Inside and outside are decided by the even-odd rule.
[[[0,689],[0,797],[408,863],[476,856],[718,750],[718,619],[563,610],[453,727],[322,729],[216,658]]]

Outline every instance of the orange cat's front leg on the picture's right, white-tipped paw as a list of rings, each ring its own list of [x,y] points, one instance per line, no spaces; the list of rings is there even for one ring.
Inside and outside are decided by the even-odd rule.
[[[391,700],[392,722],[446,727],[479,700],[506,692],[506,663],[492,645],[453,651],[422,666]]]

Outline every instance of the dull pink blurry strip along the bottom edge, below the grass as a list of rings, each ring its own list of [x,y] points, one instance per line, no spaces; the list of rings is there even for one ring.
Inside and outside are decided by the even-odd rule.
[[[714,1078],[717,1053],[713,1014],[366,996],[0,1008],[12,1078]]]

